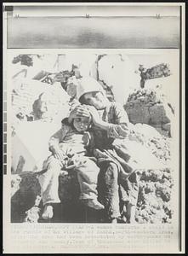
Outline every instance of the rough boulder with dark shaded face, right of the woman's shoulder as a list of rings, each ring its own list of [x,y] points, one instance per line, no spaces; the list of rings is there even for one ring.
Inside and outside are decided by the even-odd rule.
[[[158,95],[157,90],[134,90],[124,108],[131,123],[152,125],[163,135],[170,136],[170,122],[174,113],[165,96]]]

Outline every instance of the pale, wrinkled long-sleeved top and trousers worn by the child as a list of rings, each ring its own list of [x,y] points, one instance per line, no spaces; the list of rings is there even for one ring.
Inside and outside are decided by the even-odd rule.
[[[65,124],[66,123],[66,124]],[[71,154],[78,154],[79,166],[74,167],[77,172],[78,183],[80,184],[80,199],[97,200],[97,178],[100,169],[93,160],[90,160],[86,154],[88,147],[91,147],[92,137],[88,131],[79,132],[65,122],[60,131],[57,131],[49,140],[49,150],[55,145],[59,145],[62,153],[67,156],[71,150]],[[61,170],[60,160],[54,155],[50,155],[44,163],[44,172],[39,176],[41,185],[43,204],[51,204],[60,202],[58,195],[59,175]]]

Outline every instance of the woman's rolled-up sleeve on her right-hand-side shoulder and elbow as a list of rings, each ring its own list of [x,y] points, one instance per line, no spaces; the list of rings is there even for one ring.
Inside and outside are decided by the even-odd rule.
[[[107,131],[108,137],[125,138],[128,135],[128,114],[121,104],[114,103],[110,110],[111,123]]]

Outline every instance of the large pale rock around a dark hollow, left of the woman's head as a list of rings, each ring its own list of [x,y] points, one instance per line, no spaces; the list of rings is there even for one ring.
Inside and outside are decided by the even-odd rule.
[[[12,107],[14,115],[22,114],[24,117],[29,116],[34,111],[33,116],[36,118],[38,108],[41,108],[36,101],[42,94],[45,94],[46,98],[49,95],[48,112],[51,112],[51,117],[57,115],[64,106],[67,108],[70,99],[66,91],[61,88],[60,83],[50,85],[33,79],[14,79],[13,88]],[[33,108],[34,102],[36,103]],[[39,119],[38,114],[37,119]]]

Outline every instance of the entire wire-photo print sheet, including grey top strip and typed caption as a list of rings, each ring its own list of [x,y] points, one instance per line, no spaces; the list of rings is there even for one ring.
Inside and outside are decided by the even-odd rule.
[[[149,247],[161,253],[167,239],[163,252],[182,253],[183,7],[5,4],[5,237],[14,224],[158,227],[164,240]],[[117,253],[145,252],[146,241],[126,251],[123,239]],[[49,252],[87,247],[74,241]],[[101,252],[99,239],[92,248]]]

